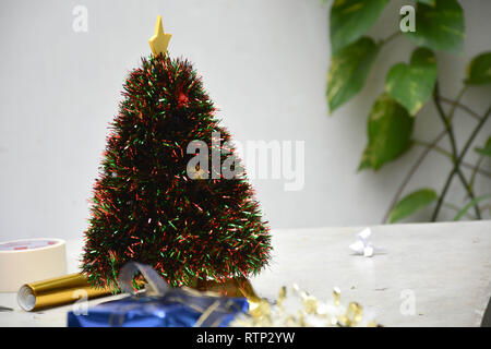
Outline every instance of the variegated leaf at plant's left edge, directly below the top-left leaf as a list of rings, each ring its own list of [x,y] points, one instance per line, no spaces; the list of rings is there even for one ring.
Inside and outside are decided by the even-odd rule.
[[[370,37],[362,37],[331,57],[327,101],[333,112],[360,92],[379,52]]]

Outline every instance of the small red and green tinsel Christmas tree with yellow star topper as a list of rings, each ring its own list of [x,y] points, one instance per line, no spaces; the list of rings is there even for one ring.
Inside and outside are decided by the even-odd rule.
[[[270,257],[268,228],[246,174],[190,166],[201,153],[188,154],[191,142],[213,153],[213,135],[230,135],[192,65],[168,56],[169,39],[159,16],[153,55],[130,73],[111,123],[82,260],[98,287],[118,290],[128,261],[152,265],[172,286],[192,286],[247,278]],[[220,164],[227,152],[218,149]]]

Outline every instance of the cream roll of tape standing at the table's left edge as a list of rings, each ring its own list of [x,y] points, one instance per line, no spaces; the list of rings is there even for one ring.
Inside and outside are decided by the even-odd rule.
[[[25,239],[0,243],[0,292],[16,292],[28,282],[67,274],[60,239]]]

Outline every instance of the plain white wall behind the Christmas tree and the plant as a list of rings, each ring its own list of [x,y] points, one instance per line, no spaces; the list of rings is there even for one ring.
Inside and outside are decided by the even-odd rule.
[[[463,56],[439,55],[441,89],[454,97],[464,68],[491,49],[491,2],[460,1],[466,32]],[[391,1],[370,31],[393,33]],[[88,32],[72,29],[73,8],[88,10]],[[163,14],[172,33],[170,52],[195,63],[219,116],[237,141],[306,141],[306,184],[284,191],[282,180],[255,180],[273,228],[368,225],[381,221],[421,148],[379,173],[357,173],[367,142],[366,120],[392,63],[408,61],[412,46],[399,38],[384,47],[369,83],[350,104],[328,116],[328,2],[321,0],[2,0],[0,4],[0,240],[81,237],[107,125],[117,113],[128,72],[149,53],[147,39]],[[464,101],[483,112],[491,88],[470,88]],[[462,146],[475,121],[457,116]],[[427,106],[416,136],[431,141],[442,129]],[[478,143],[490,134],[491,122]],[[446,140],[442,145],[448,147]],[[472,158],[470,158],[472,160]],[[484,164],[491,170],[491,164]],[[408,190],[441,190],[450,161],[427,158]],[[458,182],[450,201],[463,206]],[[480,192],[491,181],[479,179]],[[412,220],[426,220],[431,209]],[[453,212],[443,210],[450,219]]]

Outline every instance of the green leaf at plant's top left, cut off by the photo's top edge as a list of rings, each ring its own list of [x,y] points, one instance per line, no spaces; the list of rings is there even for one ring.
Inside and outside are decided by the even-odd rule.
[[[388,0],[335,0],[331,8],[332,55],[358,40],[375,22]]]

